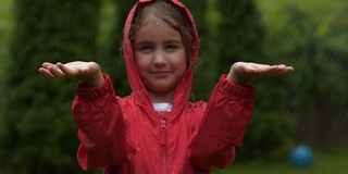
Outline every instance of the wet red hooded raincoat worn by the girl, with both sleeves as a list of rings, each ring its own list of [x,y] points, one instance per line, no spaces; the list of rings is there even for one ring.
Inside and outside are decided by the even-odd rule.
[[[188,102],[194,76],[188,67],[178,83],[171,112],[156,112],[137,73],[128,32],[140,0],[129,12],[124,29],[124,57],[133,92],[115,95],[109,75],[98,88],[77,87],[74,121],[83,170],[105,167],[108,174],[198,174],[226,167],[241,146],[251,120],[256,89],[232,84],[222,75],[209,102]],[[178,2],[191,24],[189,11]],[[196,62],[198,35],[196,32]]]

